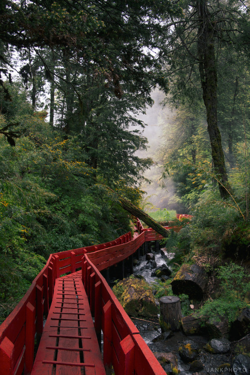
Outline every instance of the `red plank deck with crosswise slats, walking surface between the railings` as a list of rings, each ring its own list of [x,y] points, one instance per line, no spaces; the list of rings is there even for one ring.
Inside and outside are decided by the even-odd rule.
[[[55,280],[31,375],[105,375],[81,271]]]

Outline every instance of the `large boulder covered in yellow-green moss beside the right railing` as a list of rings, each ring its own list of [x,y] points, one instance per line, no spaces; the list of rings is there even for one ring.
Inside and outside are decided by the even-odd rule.
[[[113,287],[113,292],[128,315],[157,317],[152,289],[144,279],[124,278]]]

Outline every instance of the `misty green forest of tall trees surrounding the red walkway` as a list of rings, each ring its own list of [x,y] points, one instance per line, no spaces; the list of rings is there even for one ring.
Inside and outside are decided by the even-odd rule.
[[[247,0],[1,1],[1,321],[50,253],[133,230],[124,202],[155,215],[148,183],[159,222],[193,216],[164,239],[175,263],[231,267],[222,313],[247,306],[249,35]]]

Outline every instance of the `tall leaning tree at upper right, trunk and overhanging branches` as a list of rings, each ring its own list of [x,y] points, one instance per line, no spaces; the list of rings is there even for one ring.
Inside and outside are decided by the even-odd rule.
[[[170,17],[163,51],[166,74],[172,78],[171,100],[192,101],[202,96],[206,108],[214,171],[220,196],[230,190],[225,169],[221,135],[217,123],[217,58],[221,45],[229,46],[241,32],[242,19],[247,23],[244,1],[217,2],[208,0],[178,1],[183,6],[181,17]],[[217,54],[217,55],[216,55]],[[197,87],[199,81],[200,89]]]

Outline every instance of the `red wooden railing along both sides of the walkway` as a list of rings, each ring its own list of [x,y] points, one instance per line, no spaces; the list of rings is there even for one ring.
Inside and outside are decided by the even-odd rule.
[[[82,259],[82,277],[90,308],[94,315],[95,310],[99,314],[95,320],[96,332],[97,335],[100,329],[104,332],[105,365],[112,364],[115,374],[120,373],[122,360],[133,366],[135,375],[144,375],[145,369],[148,375],[165,373],[100,274],[100,270],[133,254],[145,241],[162,238],[154,230],[144,229],[139,220],[136,226],[139,235],[133,239],[129,232],[110,242],[50,254],[26,294],[0,325],[2,375],[30,373],[43,330],[43,315],[46,317],[53,298],[55,278],[80,269]]]

